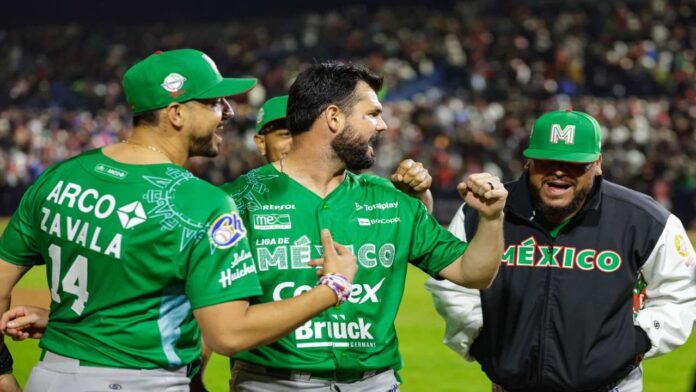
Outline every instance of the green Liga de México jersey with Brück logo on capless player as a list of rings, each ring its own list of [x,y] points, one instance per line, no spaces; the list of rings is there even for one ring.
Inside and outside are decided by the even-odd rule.
[[[360,371],[401,367],[394,319],[408,263],[432,276],[466,249],[421,202],[388,181],[347,173],[322,199],[273,165],[223,185],[239,207],[264,294],[259,302],[291,298],[316,286],[307,263],[321,257],[320,230],[358,258],[348,302],[288,336],[235,356],[297,370]]]

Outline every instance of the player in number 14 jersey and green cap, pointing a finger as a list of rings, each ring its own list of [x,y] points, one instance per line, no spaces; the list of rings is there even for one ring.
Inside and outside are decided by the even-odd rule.
[[[157,52],[124,75],[132,136],[50,167],[25,193],[0,238],[0,310],[47,265],[51,309],[27,391],[188,391],[201,336],[231,355],[348,298],[355,256],[323,230],[316,287],[249,306],[262,291],[234,202],[181,167],[217,154],[233,115],[224,97],[254,84],[196,50]],[[4,332],[21,327],[12,318]]]

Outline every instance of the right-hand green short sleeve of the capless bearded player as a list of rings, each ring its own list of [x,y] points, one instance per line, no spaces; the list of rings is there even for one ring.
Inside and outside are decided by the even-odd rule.
[[[452,264],[466,250],[467,243],[442,227],[422,203],[416,203],[409,260],[430,276]]]

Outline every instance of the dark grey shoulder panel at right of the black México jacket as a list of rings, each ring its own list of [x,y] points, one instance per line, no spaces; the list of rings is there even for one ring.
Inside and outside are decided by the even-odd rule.
[[[607,180],[602,180],[602,204],[605,211],[639,217],[661,225],[667,223],[670,215],[670,212],[652,197]]]

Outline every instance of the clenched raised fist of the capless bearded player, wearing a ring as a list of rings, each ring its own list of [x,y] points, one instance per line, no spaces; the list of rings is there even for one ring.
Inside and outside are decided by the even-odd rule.
[[[500,178],[488,173],[472,174],[457,185],[457,190],[466,204],[478,211],[482,218],[495,220],[502,217],[507,190]]]

